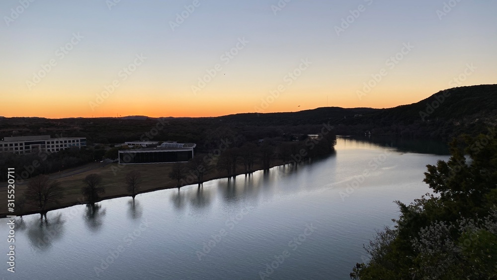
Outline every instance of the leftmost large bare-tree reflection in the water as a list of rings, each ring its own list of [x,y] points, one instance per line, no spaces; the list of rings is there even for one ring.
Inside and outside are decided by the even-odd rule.
[[[54,241],[63,237],[65,223],[62,213],[50,219],[47,216],[45,219],[33,219],[27,226],[27,236],[34,250],[45,251],[52,247]]]

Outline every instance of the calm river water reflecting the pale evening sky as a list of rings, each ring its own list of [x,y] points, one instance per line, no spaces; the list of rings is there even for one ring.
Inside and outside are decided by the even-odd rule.
[[[395,146],[395,145],[394,145]],[[427,164],[448,156],[406,153],[339,138],[336,154],[297,170],[16,218],[15,274],[4,279],[350,279],[375,229],[429,191]],[[362,176],[361,176],[362,175]],[[367,175],[367,176],[364,176]],[[268,268],[270,266],[275,267]]]

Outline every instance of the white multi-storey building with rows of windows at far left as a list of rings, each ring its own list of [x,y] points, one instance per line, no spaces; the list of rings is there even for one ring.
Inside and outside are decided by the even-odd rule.
[[[58,152],[70,147],[85,147],[84,137],[50,138],[50,135],[5,137],[0,141],[0,152],[32,154],[39,151]]]

